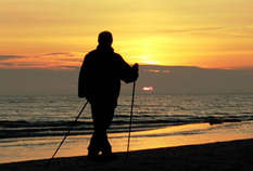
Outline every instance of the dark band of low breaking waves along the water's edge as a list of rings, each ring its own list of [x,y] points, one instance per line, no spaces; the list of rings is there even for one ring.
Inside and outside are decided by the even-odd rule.
[[[253,120],[253,116],[229,116],[223,117],[164,117],[161,119],[153,119],[152,117],[140,118],[135,117],[132,120],[132,131],[149,130],[165,126],[179,126],[189,123],[203,123],[219,124],[224,122],[240,122],[245,120]],[[248,118],[246,118],[248,117]],[[110,128],[109,132],[127,132],[129,120],[125,117],[115,119]],[[30,136],[56,136],[64,135],[68,130],[71,135],[90,134],[93,127],[92,121],[35,121],[29,122],[25,120],[0,121],[0,139],[10,137],[30,137]]]

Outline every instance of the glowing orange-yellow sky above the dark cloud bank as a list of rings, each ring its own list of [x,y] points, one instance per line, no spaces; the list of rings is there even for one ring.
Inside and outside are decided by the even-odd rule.
[[[69,68],[102,30],[129,63],[253,67],[250,0],[0,0],[1,68]]]

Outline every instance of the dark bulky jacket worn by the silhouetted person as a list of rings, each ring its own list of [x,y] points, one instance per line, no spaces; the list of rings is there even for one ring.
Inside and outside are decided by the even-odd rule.
[[[90,103],[98,101],[117,105],[121,80],[126,83],[138,78],[138,70],[129,66],[123,57],[110,48],[98,45],[89,52],[80,67],[78,96]]]

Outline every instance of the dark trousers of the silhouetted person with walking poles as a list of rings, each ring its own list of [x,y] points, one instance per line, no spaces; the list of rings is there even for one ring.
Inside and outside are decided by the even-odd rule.
[[[91,103],[91,113],[93,119],[93,134],[88,147],[89,153],[103,155],[112,153],[111,144],[107,140],[107,129],[113,120],[115,107],[104,103]]]

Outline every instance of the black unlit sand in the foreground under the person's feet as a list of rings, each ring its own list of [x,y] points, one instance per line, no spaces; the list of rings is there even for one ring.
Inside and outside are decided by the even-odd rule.
[[[90,161],[86,156],[56,158],[52,162],[33,160],[0,165],[1,171],[225,171],[252,170],[253,139],[230,142],[188,145],[129,154],[116,153],[113,161]]]

